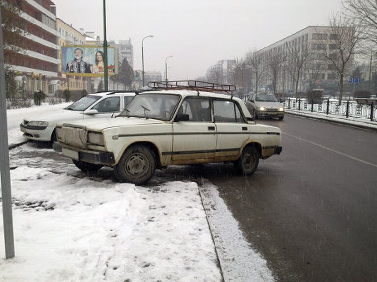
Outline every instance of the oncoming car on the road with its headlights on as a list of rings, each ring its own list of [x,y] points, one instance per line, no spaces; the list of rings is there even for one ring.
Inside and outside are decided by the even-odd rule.
[[[274,94],[252,94],[246,101],[246,107],[255,118],[284,118],[284,107],[279,103]]]

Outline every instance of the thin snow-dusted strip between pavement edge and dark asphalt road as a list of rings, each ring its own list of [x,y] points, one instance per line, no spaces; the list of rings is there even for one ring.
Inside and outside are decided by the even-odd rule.
[[[217,188],[203,181],[203,204],[226,282],[273,282],[266,260],[247,242]]]

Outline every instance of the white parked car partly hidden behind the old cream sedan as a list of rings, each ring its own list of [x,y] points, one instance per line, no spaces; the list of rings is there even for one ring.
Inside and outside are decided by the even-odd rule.
[[[55,125],[58,121],[115,117],[134,96],[135,92],[118,91],[89,94],[64,109],[24,118],[20,129],[27,139],[56,141]]]

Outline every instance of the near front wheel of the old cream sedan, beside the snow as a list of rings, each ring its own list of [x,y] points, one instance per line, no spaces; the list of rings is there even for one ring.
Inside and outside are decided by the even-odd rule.
[[[115,177],[120,182],[142,185],[152,178],[156,170],[156,163],[155,154],[149,147],[130,146],[114,167]]]

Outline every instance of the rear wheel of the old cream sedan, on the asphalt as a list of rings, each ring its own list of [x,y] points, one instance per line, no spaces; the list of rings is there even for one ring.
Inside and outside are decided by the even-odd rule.
[[[240,158],[234,163],[237,172],[243,176],[253,174],[257,170],[258,164],[259,152],[254,146],[244,148]]]

